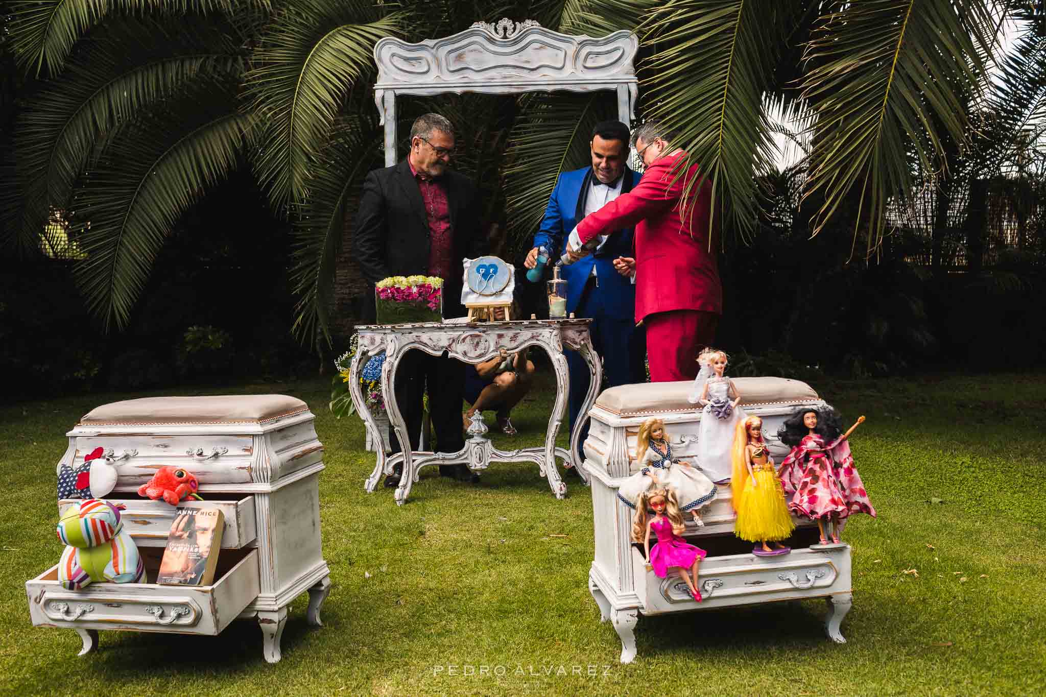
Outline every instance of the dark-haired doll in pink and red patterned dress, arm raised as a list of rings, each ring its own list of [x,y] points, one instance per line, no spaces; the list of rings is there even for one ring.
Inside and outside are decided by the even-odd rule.
[[[786,419],[777,432],[781,442],[792,448],[778,472],[789,509],[817,520],[821,544],[827,543],[825,521],[832,524],[832,541],[839,542],[842,526],[851,513],[876,516],[847,440],[863,422],[864,417],[859,417],[842,433],[834,409],[805,408]]]

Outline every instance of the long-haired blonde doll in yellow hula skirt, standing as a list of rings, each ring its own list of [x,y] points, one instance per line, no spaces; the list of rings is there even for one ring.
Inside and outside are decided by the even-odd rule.
[[[733,492],[733,510],[737,519],[733,534],[742,539],[755,542],[752,554],[776,556],[788,554],[791,549],[780,543],[795,530],[792,515],[784,503],[784,490],[774,471],[774,460],[763,441],[763,419],[749,416],[737,421],[734,429],[733,477],[730,489]],[[773,542],[771,549],[767,542]]]

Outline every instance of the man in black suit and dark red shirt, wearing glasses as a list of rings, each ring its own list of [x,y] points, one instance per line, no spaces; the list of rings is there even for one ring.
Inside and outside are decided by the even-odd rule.
[[[370,284],[389,276],[420,274],[444,279],[444,317],[461,317],[461,260],[477,256],[480,243],[479,194],[476,186],[448,168],[454,150],[454,127],[438,114],[425,114],[410,130],[410,153],[400,164],[369,172],[356,215],[354,251]],[[367,303],[369,307],[372,304]],[[461,398],[464,366],[447,356],[408,351],[396,371],[395,396],[407,422],[411,446],[422,429],[422,396],[429,386],[429,411],[436,450],[464,447]],[[402,448],[389,435],[393,452]],[[439,467],[445,477],[478,482],[464,465]],[[400,483],[400,469],[385,486]]]

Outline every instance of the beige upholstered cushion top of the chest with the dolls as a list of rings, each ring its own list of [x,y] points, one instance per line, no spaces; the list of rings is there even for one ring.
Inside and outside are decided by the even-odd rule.
[[[735,377],[733,384],[741,393],[742,406],[819,399],[812,387],[787,377]],[[692,380],[621,385],[605,390],[595,403],[622,416],[697,412],[700,408],[686,399],[692,387]]]

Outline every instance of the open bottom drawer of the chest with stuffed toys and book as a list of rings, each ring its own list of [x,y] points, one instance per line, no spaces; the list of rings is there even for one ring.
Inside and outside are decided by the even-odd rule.
[[[141,550],[141,556],[149,578],[155,579],[163,550]],[[204,586],[92,583],[66,590],[55,564],[26,581],[25,590],[38,627],[218,634],[259,593],[257,550],[222,552],[214,577],[213,585]]]

